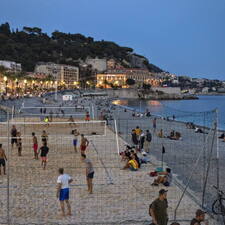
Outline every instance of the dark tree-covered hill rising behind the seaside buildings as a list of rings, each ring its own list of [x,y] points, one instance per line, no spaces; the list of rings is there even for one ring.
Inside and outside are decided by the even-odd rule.
[[[39,61],[78,65],[87,57],[114,58],[124,67],[162,71],[145,57],[134,54],[132,48],[121,47],[114,42],[95,41],[82,34],[59,31],[49,36],[38,27],[23,27],[14,31],[8,23],[0,25],[0,60],[21,63],[24,71],[33,71]]]

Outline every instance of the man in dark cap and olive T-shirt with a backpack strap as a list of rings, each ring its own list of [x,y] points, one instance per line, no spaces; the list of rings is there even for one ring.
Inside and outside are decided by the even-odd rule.
[[[159,197],[154,200],[149,206],[149,215],[152,217],[152,221],[154,224],[167,225],[167,208],[167,190],[161,189],[159,191]]]

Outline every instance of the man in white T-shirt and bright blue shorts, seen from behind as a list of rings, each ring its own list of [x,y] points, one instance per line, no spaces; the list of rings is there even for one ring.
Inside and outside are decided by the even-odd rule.
[[[73,181],[73,179],[68,175],[64,174],[64,169],[59,168],[59,176],[57,179],[57,192],[56,197],[59,198],[60,206],[62,210],[62,216],[65,216],[65,207],[64,202],[66,202],[68,208],[68,216],[71,216],[71,206],[69,202],[69,184]]]

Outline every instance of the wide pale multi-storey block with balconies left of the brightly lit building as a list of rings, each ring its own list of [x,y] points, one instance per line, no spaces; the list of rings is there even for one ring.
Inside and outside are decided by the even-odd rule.
[[[76,66],[55,63],[38,63],[35,66],[35,73],[52,76],[54,80],[64,82],[68,85],[79,80],[79,68]]]

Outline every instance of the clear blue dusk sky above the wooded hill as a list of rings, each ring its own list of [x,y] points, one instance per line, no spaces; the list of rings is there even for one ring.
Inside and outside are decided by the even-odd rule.
[[[224,0],[1,0],[5,22],[114,41],[165,71],[225,80]]]

